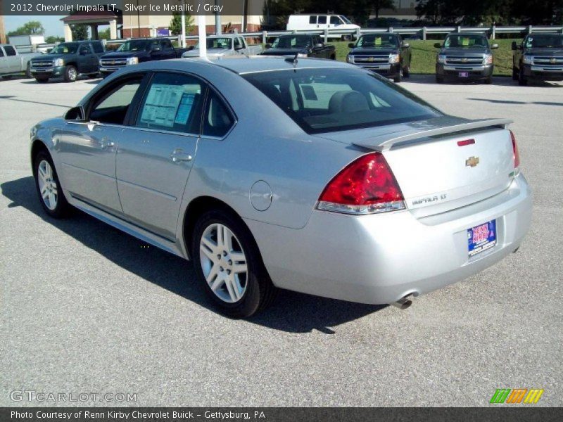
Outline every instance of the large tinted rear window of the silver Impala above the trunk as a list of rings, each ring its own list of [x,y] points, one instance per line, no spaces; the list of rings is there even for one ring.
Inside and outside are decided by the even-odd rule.
[[[310,134],[442,115],[409,91],[360,69],[296,68],[243,77]]]

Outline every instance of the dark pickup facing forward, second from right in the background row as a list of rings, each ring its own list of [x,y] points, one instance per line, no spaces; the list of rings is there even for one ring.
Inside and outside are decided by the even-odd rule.
[[[440,49],[436,56],[436,82],[446,78],[493,83],[493,52],[498,44],[488,44],[485,34],[452,32],[444,44],[434,44]]]

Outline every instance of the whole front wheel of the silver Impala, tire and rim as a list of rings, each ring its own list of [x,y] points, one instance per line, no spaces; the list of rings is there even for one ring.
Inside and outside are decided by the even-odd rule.
[[[70,214],[70,204],[65,198],[61,182],[53,165],[51,155],[39,151],[33,160],[33,176],[37,196],[43,210],[53,218],[63,218]]]

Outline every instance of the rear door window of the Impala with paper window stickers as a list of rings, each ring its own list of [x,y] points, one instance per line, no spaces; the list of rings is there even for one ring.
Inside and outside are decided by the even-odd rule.
[[[196,77],[157,73],[141,101],[135,126],[199,134],[203,90]]]

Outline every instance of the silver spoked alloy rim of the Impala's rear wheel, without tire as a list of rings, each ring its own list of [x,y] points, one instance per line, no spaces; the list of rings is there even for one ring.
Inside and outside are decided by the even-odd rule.
[[[217,298],[234,303],[246,292],[248,265],[241,243],[224,224],[210,224],[199,242],[201,269]]]

